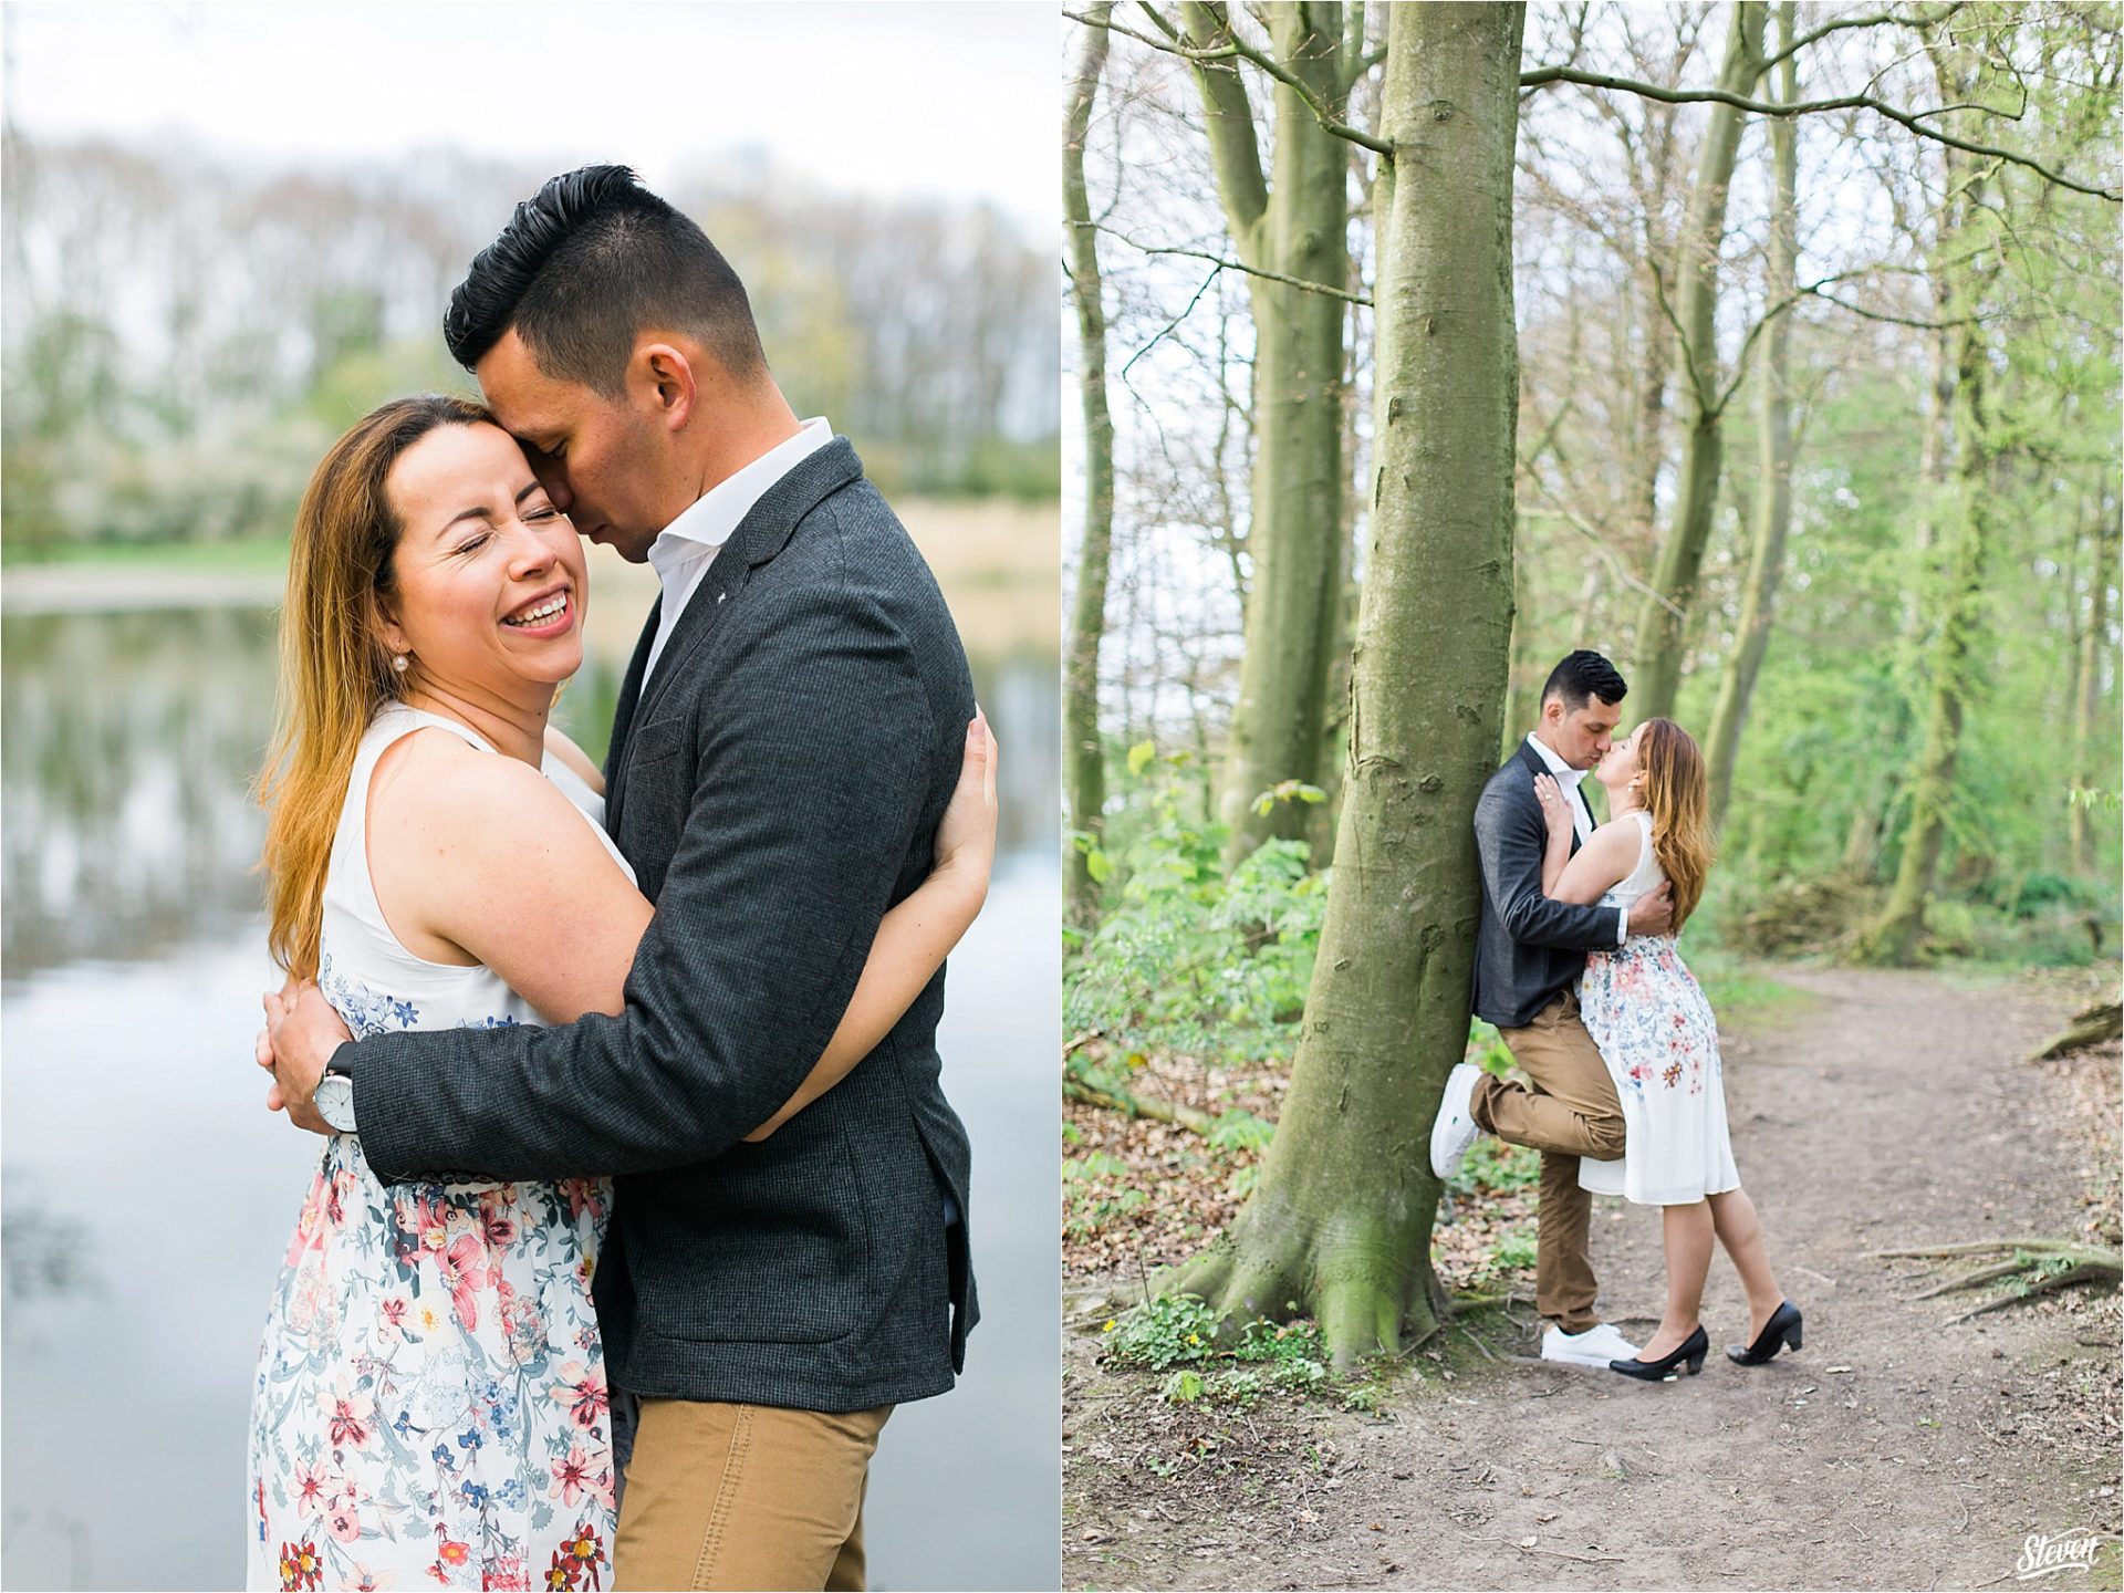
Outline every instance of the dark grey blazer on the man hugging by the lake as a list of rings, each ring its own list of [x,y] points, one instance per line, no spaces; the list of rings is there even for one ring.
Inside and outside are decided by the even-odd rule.
[[[979,1315],[943,973],[835,1090],[741,1136],[811,1070],[877,920],[930,869],[973,718],[958,631],[835,438],[716,554],[644,688],[654,633],[652,612],[605,765],[605,822],[656,903],[624,1015],[363,1041],[363,1151],[393,1183],[616,1175],[595,1294],[633,1393],[941,1393]]]

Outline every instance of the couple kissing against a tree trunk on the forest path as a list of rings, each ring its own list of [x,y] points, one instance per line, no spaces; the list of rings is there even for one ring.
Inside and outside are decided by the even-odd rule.
[[[1627,690],[1601,654],[1563,658],[1542,686],[1540,722],[1476,803],[1474,1011],[1497,1026],[1525,1081],[1455,1066],[1432,1170],[1451,1179],[1483,1132],[1538,1149],[1542,1359],[1672,1381],[1676,1368],[1701,1372],[1710,1353],[1701,1304],[1714,1236],[1748,1291],[1733,1361],[1799,1349],[1801,1317],[1740,1187],[1718,1024],[1674,943],[1712,864],[1703,756],[1665,718],[1616,739]],[[1587,771],[1608,794],[1608,824],[1593,822]],[[1667,1304],[1642,1349],[1593,1308],[1593,1194],[1661,1209]]]

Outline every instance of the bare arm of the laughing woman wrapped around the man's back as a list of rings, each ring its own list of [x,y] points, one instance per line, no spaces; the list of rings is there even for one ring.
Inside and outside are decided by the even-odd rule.
[[[913,1005],[973,924],[996,852],[996,748],[966,754],[937,830],[937,869],[879,922],[841,1024],[765,1138],[839,1083]],[[550,1024],[618,1013],[650,903],[588,820],[529,765],[416,733],[370,796],[370,877],[416,956],[484,962]],[[495,881],[506,881],[497,890]]]

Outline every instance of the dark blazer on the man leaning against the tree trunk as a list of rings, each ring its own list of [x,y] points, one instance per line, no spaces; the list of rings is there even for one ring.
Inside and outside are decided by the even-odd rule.
[[[1544,773],[1548,767],[1521,741],[1474,805],[1474,845],[1483,858],[1474,1015],[1497,1028],[1525,1028],[1551,996],[1585,973],[1587,952],[1616,945],[1623,915],[1621,907],[1574,907],[1542,894],[1548,826],[1534,777]],[[1576,837],[1572,852],[1578,852]]]

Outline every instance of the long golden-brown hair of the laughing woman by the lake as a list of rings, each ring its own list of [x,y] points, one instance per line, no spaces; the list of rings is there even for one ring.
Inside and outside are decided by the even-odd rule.
[[[384,482],[429,431],[482,421],[493,414],[459,397],[393,399],[331,444],[295,512],[280,610],[280,703],[257,799],[270,813],[259,860],[268,877],[268,945],[297,979],[316,977],[325,871],[355,750],[401,682],[378,629],[401,531]]]

